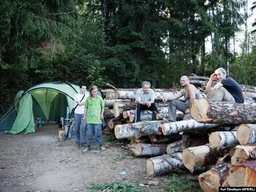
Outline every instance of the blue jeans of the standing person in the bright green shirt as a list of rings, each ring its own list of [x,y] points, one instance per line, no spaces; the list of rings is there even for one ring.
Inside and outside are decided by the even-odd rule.
[[[97,141],[97,145],[102,145],[102,129],[101,124],[87,124],[87,145],[92,145],[93,141],[93,132],[95,132],[95,138]]]

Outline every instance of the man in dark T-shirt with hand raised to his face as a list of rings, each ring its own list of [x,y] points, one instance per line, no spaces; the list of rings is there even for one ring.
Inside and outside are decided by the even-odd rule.
[[[214,88],[211,88],[212,81],[214,80],[217,80],[218,83]],[[244,103],[241,86],[234,79],[227,76],[227,72],[224,68],[218,68],[215,70],[214,74],[211,74],[205,92],[207,92],[207,98],[212,100]]]

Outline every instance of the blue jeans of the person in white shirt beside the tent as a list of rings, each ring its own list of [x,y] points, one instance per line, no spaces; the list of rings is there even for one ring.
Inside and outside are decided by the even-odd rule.
[[[76,141],[78,143],[84,143],[85,140],[86,121],[83,118],[83,114],[74,113]]]

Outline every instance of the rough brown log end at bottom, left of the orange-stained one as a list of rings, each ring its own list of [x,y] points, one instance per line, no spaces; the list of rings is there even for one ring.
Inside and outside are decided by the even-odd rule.
[[[215,180],[220,180],[220,179],[215,179],[214,177],[218,177],[218,175],[211,175],[208,172],[202,173],[198,176],[198,182],[200,184],[200,187],[203,191],[208,192],[208,191],[218,191],[219,186],[216,186],[216,184],[214,184]],[[220,177],[220,175],[219,175]]]

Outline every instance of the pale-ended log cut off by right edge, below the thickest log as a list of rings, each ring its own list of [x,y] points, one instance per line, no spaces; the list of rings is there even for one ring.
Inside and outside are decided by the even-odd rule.
[[[256,125],[241,124],[237,128],[237,140],[241,145],[256,143]]]

